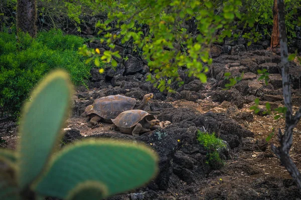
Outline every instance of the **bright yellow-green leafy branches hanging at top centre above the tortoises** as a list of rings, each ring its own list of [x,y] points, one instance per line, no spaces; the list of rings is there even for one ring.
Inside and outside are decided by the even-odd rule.
[[[209,49],[213,42],[229,35],[226,31],[234,17],[240,17],[240,0],[212,2],[211,0],[131,0],[105,1],[109,6],[108,19],[98,22],[99,33],[112,28],[120,29],[119,34],[107,32],[106,43],[114,48],[116,39],[122,43],[132,43],[136,51],[148,60],[148,66],[155,76],[147,80],[161,90],[170,90],[166,79],[182,82],[178,67],[188,68],[188,75],[206,82],[205,72],[212,63]],[[219,12],[215,12],[215,10]],[[198,33],[192,35],[184,27],[185,21],[196,19]],[[117,24],[112,25],[112,21]],[[146,27],[143,29],[142,27]],[[225,28],[224,30],[221,30]],[[218,31],[221,30],[219,38]],[[231,32],[230,32],[231,35]],[[178,47],[177,47],[178,46]],[[110,51],[101,59],[111,61]],[[115,55],[116,56],[116,55]]]

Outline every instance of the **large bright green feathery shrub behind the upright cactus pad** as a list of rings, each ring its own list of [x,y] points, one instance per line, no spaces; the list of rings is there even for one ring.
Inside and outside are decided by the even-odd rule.
[[[63,68],[75,85],[85,84],[91,64],[78,54],[84,39],[61,30],[28,34],[0,32],[0,115],[18,117],[34,85],[50,69]]]

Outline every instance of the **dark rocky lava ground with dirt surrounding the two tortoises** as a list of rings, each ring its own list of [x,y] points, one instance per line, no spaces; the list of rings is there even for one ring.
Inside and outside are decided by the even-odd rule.
[[[266,102],[271,108],[283,106],[280,56],[268,50],[221,54],[214,58],[208,82],[185,75],[185,84],[175,84],[177,93],[162,93],[145,82],[149,73],[142,60],[128,56],[117,70],[99,74],[92,70],[89,89],[78,87],[73,96],[73,112],[65,128],[62,146],[76,139],[90,137],[137,140],[152,146],[160,155],[160,173],[143,188],[108,199],[301,199],[295,183],[270,150],[276,136],[265,141],[272,128],[284,127],[284,119],[263,114]],[[122,62],[122,60],[121,60]],[[258,81],[257,69],[270,73],[268,84]],[[301,66],[290,62],[293,109],[301,106]],[[224,90],[224,72],[244,77],[231,89]],[[142,99],[146,93],[154,98],[144,108],[163,121],[163,129],[133,137],[109,130],[109,124],[92,126],[80,116],[94,99],[112,94]],[[259,97],[261,111],[254,114],[250,106]],[[16,147],[15,123],[0,126],[1,146]],[[214,169],[206,164],[206,150],[196,139],[197,130],[216,132],[227,141],[222,151],[225,166]],[[291,157],[301,169],[301,122],[294,129]]]

